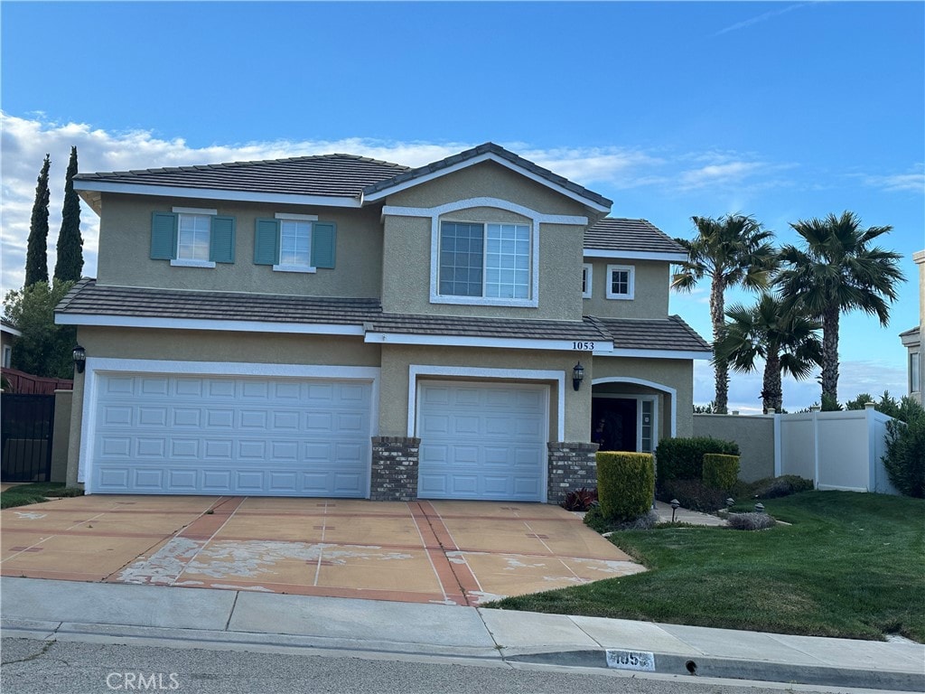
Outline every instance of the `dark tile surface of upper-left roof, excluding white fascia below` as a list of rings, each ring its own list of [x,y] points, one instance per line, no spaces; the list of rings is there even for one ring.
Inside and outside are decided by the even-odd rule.
[[[74,180],[219,191],[283,192],[358,198],[364,188],[408,167],[356,155],[297,156],[198,167],[79,174]]]

